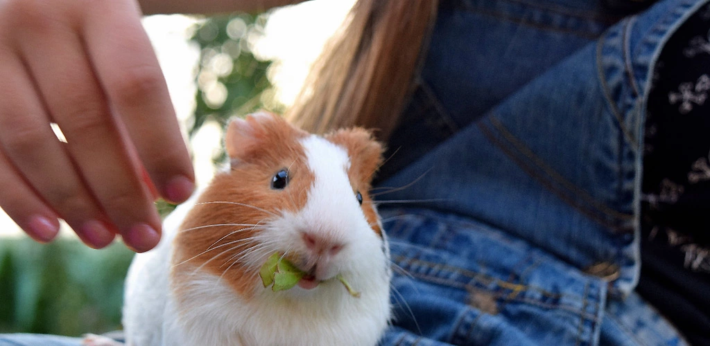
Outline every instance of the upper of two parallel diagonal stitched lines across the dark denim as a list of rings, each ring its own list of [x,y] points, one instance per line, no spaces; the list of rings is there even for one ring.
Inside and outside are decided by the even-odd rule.
[[[537,157],[537,155],[535,155],[535,152],[532,152],[530,148],[525,146],[525,144],[523,144],[520,139],[515,137],[513,133],[510,133],[506,126],[503,125],[501,121],[498,121],[495,116],[491,116],[491,123],[493,124],[493,126],[496,127],[496,129],[498,129],[501,135],[503,135],[503,138],[506,138],[506,140],[508,140],[508,142],[512,144],[513,147],[518,150],[518,152],[525,155],[525,157],[528,157],[530,161],[532,161],[537,167],[542,169],[542,172],[545,172],[550,177],[550,179],[552,179],[552,181],[562,185],[565,189],[568,189],[573,194],[579,195],[580,199],[583,199],[586,203],[589,203],[589,205],[591,205],[593,208],[600,211],[601,213],[605,213],[608,216],[612,216],[613,218],[618,218],[621,220],[633,217],[632,215],[620,213],[614,210],[613,208],[605,206],[603,203],[596,201],[596,199],[589,195],[588,192],[584,191],[583,189],[580,189],[579,186],[568,182],[567,179],[564,179],[564,177],[562,177],[561,174],[557,173],[555,169],[545,164],[545,162],[540,159],[540,157]]]

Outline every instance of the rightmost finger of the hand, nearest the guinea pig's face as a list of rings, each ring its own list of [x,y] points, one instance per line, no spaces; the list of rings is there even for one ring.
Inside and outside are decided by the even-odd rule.
[[[192,162],[140,13],[129,1],[99,1],[96,6],[111,16],[92,16],[83,28],[109,103],[160,194],[176,203],[185,201],[194,188]]]

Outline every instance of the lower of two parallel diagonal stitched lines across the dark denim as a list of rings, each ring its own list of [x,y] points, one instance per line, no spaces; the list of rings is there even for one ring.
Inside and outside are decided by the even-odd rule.
[[[618,220],[613,220],[613,221],[608,221],[605,218],[600,217],[597,215],[594,211],[589,210],[589,208],[586,208],[586,206],[581,205],[578,201],[575,201],[573,198],[567,196],[567,194],[564,194],[562,191],[559,191],[553,184],[550,182],[547,182],[547,179],[544,179],[540,174],[535,172],[531,167],[528,166],[527,163],[523,162],[523,160],[520,160],[518,157],[514,155],[514,153],[508,149],[506,145],[503,145],[498,138],[496,138],[493,133],[491,132],[490,129],[484,125],[481,121],[476,123],[478,125],[479,129],[481,130],[482,133],[486,136],[486,138],[493,143],[493,145],[496,145],[497,147],[501,148],[503,152],[508,155],[510,160],[513,160],[516,164],[518,164],[518,167],[523,169],[526,173],[530,174],[530,177],[533,177],[537,179],[537,182],[542,184],[542,186],[545,186],[547,189],[552,191],[559,199],[562,199],[562,201],[566,202],[569,204],[569,206],[572,206],[573,208],[577,209],[580,213],[583,215],[587,216],[590,218],[592,221],[596,221],[596,223],[599,223],[600,225],[603,225],[604,227],[610,229],[612,232],[625,232],[628,231],[628,227],[623,226],[623,225],[618,225]],[[601,211],[600,211],[601,212]],[[606,213],[603,214],[604,216],[608,216]],[[631,216],[628,216],[628,218],[631,218]]]

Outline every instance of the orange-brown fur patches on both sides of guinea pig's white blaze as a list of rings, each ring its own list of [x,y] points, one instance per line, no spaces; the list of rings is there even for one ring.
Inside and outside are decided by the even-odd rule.
[[[258,233],[258,229],[246,225],[192,228],[226,223],[256,225],[271,217],[271,214],[256,208],[271,213],[299,211],[307,202],[308,191],[315,178],[299,143],[307,133],[293,128],[278,116],[271,116],[271,119],[247,118],[241,122],[237,133],[227,135],[227,152],[233,162],[231,170],[214,178],[187,214],[175,237],[173,264],[189,262],[190,265],[173,266],[171,275],[173,279],[178,279],[175,281],[189,280],[195,268],[202,267],[200,270],[203,272],[222,277],[237,294],[249,298],[255,294],[253,288],[258,273],[244,264],[233,262],[235,255],[249,251],[258,243],[245,241],[214,247],[251,238]],[[353,190],[361,192],[367,221],[373,231],[382,237],[378,216],[368,195],[372,175],[381,163],[381,145],[362,129],[339,130],[327,135],[326,139],[347,150],[351,158],[348,176]],[[271,189],[273,176],[280,169],[288,169],[289,174],[289,184],[283,191]],[[256,208],[213,202],[237,202]],[[229,235],[242,228],[244,230]],[[228,267],[229,271],[226,270]],[[180,285],[175,289],[176,297],[180,299]]]

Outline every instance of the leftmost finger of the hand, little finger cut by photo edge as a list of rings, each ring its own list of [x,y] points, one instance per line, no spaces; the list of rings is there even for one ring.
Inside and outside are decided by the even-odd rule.
[[[38,242],[59,232],[56,214],[40,199],[0,152],[0,206],[20,228]]]

